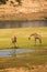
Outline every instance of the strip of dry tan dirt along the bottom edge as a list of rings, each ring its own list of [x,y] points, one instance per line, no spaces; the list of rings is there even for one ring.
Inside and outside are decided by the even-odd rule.
[[[0,72],[47,72],[47,65],[34,65],[31,68],[9,68],[0,70]]]

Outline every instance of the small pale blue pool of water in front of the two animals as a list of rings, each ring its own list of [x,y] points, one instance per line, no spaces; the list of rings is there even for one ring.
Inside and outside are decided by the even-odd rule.
[[[32,52],[32,49],[10,49],[10,50],[0,50],[0,56],[12,56],[13,53],[26,53]]]

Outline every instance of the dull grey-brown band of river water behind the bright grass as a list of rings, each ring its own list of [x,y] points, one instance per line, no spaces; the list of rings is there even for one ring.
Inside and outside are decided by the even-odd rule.
[[[47,27],[47,20],[0,21],[0,29],[28,28],[28,27]]]

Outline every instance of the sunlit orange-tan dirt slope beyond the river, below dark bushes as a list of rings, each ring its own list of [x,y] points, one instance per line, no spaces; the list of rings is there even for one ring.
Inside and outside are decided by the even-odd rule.
[[[37,16],[36,16],[37,14]],[[17,3],[0,4],[0,20],[35,20],[47,19],[46,0],[22,0],[22,6]]]

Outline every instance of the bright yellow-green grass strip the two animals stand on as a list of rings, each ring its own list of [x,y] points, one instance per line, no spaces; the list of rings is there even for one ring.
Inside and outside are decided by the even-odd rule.
[[[31,33],[37,32],[42,35],[43,44],[35,45],[34,38],[28,41]],[[0,29],[0,49],[10,49],[13,47],[11,37],[15,34],[17,38],[16,47],[19,48],[47,48],[47,27],[43,28],[20,28],[20,29]]]

